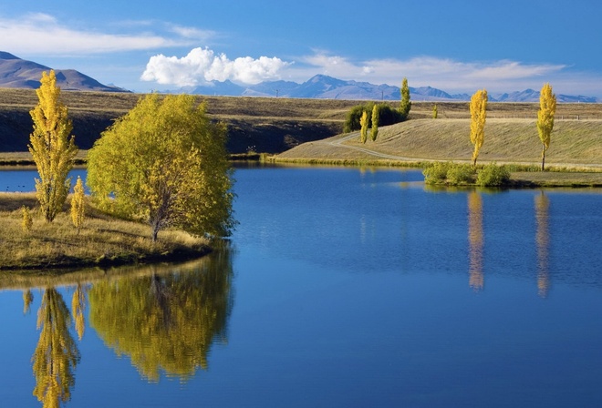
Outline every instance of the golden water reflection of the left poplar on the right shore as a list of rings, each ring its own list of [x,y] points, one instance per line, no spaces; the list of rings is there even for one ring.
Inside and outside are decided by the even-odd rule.
[[[474,291],[482,291],[483,277],[483,200],[472,191],[468,195],[468,242],[469,242],[469,281]]]

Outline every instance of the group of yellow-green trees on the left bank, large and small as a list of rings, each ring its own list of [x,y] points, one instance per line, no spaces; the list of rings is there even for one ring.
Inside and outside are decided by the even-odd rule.
[[[36,162],[36,198],[47,222],[62,211],[71,188],[68,173],[78,152],[68,109],[54,71],[43,73],[39,102],[30,112],[29,151]],[[142,97],[88,152],[88,187],[101,209],[146,220],[151,238],[178,227],[194,235],[228,236],[234,229],[232,174],[226,128],[192,96]],[[78,180],[71,216],[83,224],[83,184]],[[31,228],[24,209],[24,229]]]

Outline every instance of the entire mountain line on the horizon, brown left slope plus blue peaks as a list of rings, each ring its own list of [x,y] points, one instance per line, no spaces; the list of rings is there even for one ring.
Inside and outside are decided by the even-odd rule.
[[[0,51],[0,87],[37,88],[42,71],[51,68],[26,61]],[[129,92],[120,87],[100,84],[94,78],[74,69],[55,69],[57,85],[64,90]],[[399,100],[400,87],[387,84],[374,85],[368,82],[345,81],[332,76],[317,75],[302,84],[291,81],[265,81],[256,85],[240,86],[226,80],[212,81],[198,87],[182,87],[167,93],[189,93],[208,96],[230,97],[300,97],[347,100]],[[469,101],[469,94],[449,94],[434,87],[410,87],[414,101]],[[489,94],[492,102],[538,102],[539,91],[525,89],[511,93]],[[597,97],[556,95],[558,102],[602,102]]]

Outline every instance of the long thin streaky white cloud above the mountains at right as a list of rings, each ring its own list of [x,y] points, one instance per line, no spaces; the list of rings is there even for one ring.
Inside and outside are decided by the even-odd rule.
[[[550,82],[558,93],[602,94],[602,86],[596,86],[602,83],[599,75],[575,72],[570,68],[511,60],[466,62],[436,56],[353,61],[318,50],[313,55],[297,58],[296,65],[285,69],[282,75],[296,82],[324,74],[398,87],[405,76],[410,87],[431,86],[450,93],[473,92],[483,87],[490,92],[510,92],[528,87],[538,89],[545,82]]]

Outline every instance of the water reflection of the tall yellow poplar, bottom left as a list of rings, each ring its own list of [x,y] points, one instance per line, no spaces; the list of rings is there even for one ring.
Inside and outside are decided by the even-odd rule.
[[[37,311],[40,338],[32,361],[36,377],[34,395],[45,408],[58,407],[71,398],[71,387],[75,384],[73,371],[79,362],[79,351],[68,330],[70,322],[61,294],[55,288],[44,291]]]

